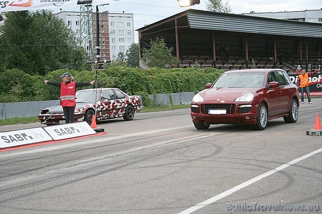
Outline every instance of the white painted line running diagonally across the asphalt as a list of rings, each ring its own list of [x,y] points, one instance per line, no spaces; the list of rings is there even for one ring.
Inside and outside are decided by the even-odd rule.
[[[310,157],[310,156],[312,156],[314,154],[317,154],[317,153],[319,153],[321,151],[322,151],[322,148],[319,148],[319,149],[317,149],[315,151],[312,151],[312,152],[310,152],[310,153],[308,153],[306,155],[303,155],[302,157],[298,157],[296,159],[293,159],[293,161],[290,161],[290,162],[288,162],[286,164],[283,164],[283,165],[281,165],[281,166],[279,166],[279,167],[277,167],[275,169],[272,169],[272,170],[270,170],[268,172],[265,172],[264,174],[261,174],[261,175],[255,177],[255,178],[247,180],[247,181],[245,181],[245,182],[243,182],[243,183],[241,183],[241,184],[239,184],[237,186],[234,186],[232,189],[229,189],[229,190],[227,190],[225,192],[222,192],[219,195],[216,195],[216,196],[214,196],[214,197],[212,197],[212,198],[210,198],[208,200],[202,201],[201,203],[199,203],[199,204],[197,204],[195,206],[192,206],[192,207],[190,207],[190,208],[188,208],[186,210],[183,210],[183,211],[179,212],[178,214],[190,214],[190,213],[192,213],[192,212],[194,212],[194,211],[196,211],[198,209],[201,209],[202,207],[208,206],[208,205],[210,205],[210,204],[212,204],[212,203],[214,203],[214,202],[216,202],[216,201],[218,201],[218,200],[220,200],[220,199],[222,199],[222,198],[224,198],[224,197],[226,197],[228,195],[231,195],[231,194],[233,194],[233,193],[245,188],[246,186],[249,186],[250,184],[253,184],[253,183],[255,183],[255,182],[257,182],[257,181],[259,181],[259,180],[261,180],[263,178],[266,178],[266,177],[268,177],[268,176],[270,176],[270,175],[272,175],[272,174],[274,174],[276,172],[284,170],[285,168],[287,168],[289,166],[292,166],[292,165],[296,164],[297,162],[303,161],[304,159],[306,159],[306,158],[308,158],[308,157]]]

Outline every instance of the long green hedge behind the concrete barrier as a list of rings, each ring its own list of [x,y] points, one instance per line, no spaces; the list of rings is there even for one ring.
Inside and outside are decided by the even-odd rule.
[[[59,97],[59,88],[45,85],[44,79],[61,82],[60,75],[68,72],[76,82],[90,82],[96,77],[96,71],[75,71],[61,69],[45,76],[31,76],[18,69],[0,73],[0,102],[54,100]],[[115,87],[129,95],[141,95],[144,104],[149,104],[149,94],[169,94],[204,89],[206,83],[212,83],[222,73],[215,68],[171,68],[140,69],[129,67],[110,67],[98,70],[98,87]],[[82,87],[78,88],[91,88]]]

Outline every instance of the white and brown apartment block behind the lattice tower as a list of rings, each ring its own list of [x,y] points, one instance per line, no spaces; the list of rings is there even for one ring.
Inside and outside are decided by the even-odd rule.
[[[100,48],[100,60],[116,60],[119,52],[126,52],[134,42],[134,23],[131,13],[109,13],[108,11],[99,13],[99,45],[97,45],[97,24],[96,13],[92,14],[93,20],[93,41],[82,42],[88,39],[87,34],[81,35],[80,12],[62,11],[55,14],[64,20],[76,34],[78,42],[83,45],[88,52],[94,51],[96,59],[96,47]],[[93,48],[90,50],[90,48]]]

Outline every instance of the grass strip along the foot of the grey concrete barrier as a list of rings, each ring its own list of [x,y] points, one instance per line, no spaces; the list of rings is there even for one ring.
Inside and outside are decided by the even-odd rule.
[[[160,112],[175,109],[189,109],[190,105],[157,105],[157,106],[144,106],[140,110],[140,113],[144,112]],[[8,118],[5,120],[0,119],[0,126],[16,125],[16,124],[28,124],[28,123],[40,123],[38,117],[22,117],[22,118]]]

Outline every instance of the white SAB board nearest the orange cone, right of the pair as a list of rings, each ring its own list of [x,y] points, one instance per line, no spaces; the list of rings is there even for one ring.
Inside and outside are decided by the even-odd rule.
[[[66,123],[43,128],[55,140],[94,135],[96,131],[87,122]]]

